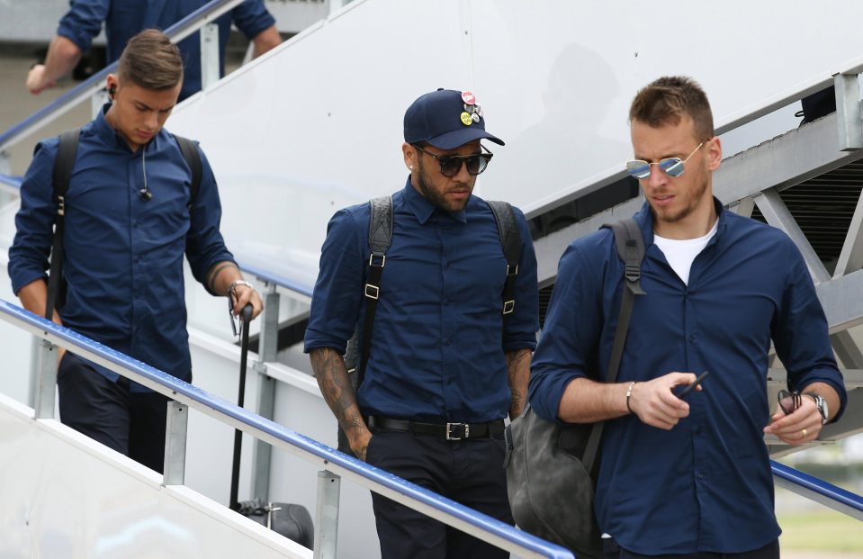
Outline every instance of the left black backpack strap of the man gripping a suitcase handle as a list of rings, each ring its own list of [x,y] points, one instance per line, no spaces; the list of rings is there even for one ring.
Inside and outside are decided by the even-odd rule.
[[[45,319],[54,316],[60,291],[60,279],[63,274],[63,230],[66,216],[66,192],[72,171],[75,169],[75,159],[78,153],[78,140],[81,129],[67,130],[60,134],[57,157],[54,158],[52,175],[53,202],[57,204],[57,214],[54,217],[54,239],[51,242],[51,266],[48,275],[48,301],[45,303]]]

